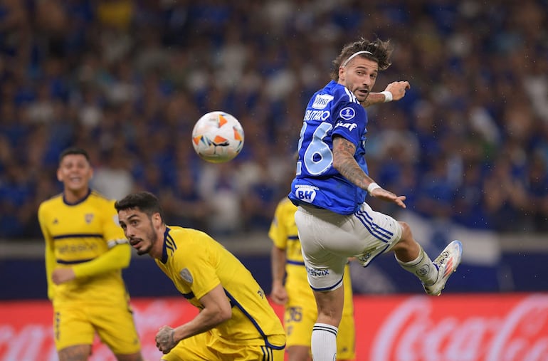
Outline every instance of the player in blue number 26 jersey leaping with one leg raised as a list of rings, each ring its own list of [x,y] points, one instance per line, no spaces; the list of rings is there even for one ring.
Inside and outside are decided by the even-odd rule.
[[[308,282],[317,304],[312,329],[312,357],[332,361],[344,305],[343,274],[348,257],[367,266],[392,251],[414,273],[429,295],[439,295],[462,255],[451,242],[431,261],[413,239],[409,225],[374,211],[372,197],[405,208],[405,196],[383,189],[369,177],[365,160],[367,113],[362,104],[380,70],[390,66],[389,41],[359,39],[342,48],[333,61],[332,81],[307,105],[298,143],[296,176],[289,198],[295,213]],[[401,90],[404,91],[404,90]],[[383,92],[390,100],[392,95]]]

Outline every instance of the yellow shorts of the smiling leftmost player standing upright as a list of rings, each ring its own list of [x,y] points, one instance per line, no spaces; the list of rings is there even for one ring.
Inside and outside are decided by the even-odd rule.
[[[53,308],[53,332],[57,350],[74,345],[93,345],[95,332],[116,355],[141,350],[130,305],[70,304]]]

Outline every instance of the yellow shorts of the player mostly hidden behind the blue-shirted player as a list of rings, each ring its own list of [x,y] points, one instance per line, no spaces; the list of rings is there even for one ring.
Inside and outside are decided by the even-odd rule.
[[[352,283],[349,268],[344,270],[344,309],[337,333],[337,360],[356,358],[354,325],[354,306],[352,302]],[[288,280],[290,282],[290,280]],[[289,302],[285,305],[284,328],[287,335],[285,348],[306,346],[310,348],[312,327],[317,320],[316,301],[307,283],[287,286]]]

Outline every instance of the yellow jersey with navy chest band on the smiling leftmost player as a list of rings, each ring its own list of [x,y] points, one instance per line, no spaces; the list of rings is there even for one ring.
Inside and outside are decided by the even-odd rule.
[[[122,266],[117,267],[115,261],[107,265],[93,262],[112,246],[117,247],[117,252],[122,251],[125,259],[131,256],[114,202],[90,190],[76,204],[65,202],[63,194],[58,194],[39,206],[38,221],[46,241],[48,297],[54,305],[65,302],[106,305],[127,301]],[[53,283],[53,269],[68,266],[73,267],[77,278],[60,285]],[[90,266],[95,266],[95,270],[100,266],[105,271],[86,276]]]

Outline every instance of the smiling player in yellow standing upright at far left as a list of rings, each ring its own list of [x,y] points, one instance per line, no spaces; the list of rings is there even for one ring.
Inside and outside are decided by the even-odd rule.
[[[114,201],[90,189],[92,176],[85,150],[64,150],[57,170],[63,193],[38,209],[58,357],[88,360],[98,333],[118,361],[142,361],[122,280],[131,248],[118,224]]]

